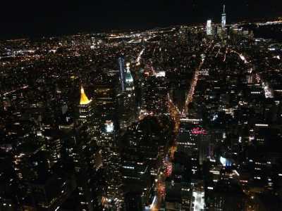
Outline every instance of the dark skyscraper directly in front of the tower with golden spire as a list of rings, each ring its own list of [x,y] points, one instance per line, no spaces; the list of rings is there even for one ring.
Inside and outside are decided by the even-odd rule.
[[[75,200],[78,209],[92,211],[94,207],[95,153],[96,147],[90,136],[90,127],[80,124],[66,131],[65,149],[75,174]]]

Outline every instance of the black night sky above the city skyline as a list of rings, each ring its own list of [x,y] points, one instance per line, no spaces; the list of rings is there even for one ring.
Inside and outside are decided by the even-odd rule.
[[[220,20],[227,22],[282,16],[281,0],[37,0],[1,2],[1,39],[43,35],[145,29]]]

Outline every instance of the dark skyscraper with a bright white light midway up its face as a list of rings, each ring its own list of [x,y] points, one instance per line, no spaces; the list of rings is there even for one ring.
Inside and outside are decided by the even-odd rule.
[[[120,91],[117,79],[119,74],[102,74],[95,82],[94,99],[97,120],[99,121],[99,139],[97,145],[102,155],[102,204],[104,210],[119,210],[123,204],[121,191],[121,156],[118,152],[118,126],[116,121],[116,96]],[[124,94],[123,92],[122,94]]]

